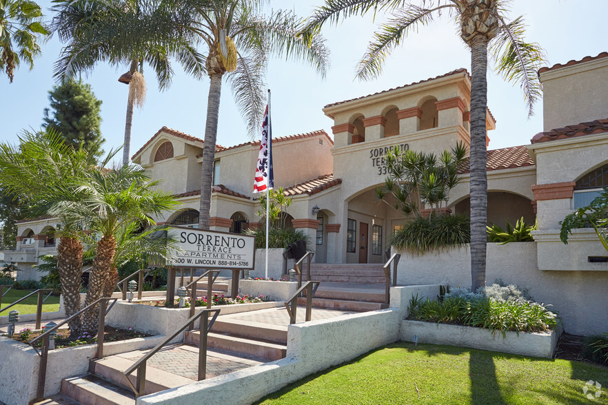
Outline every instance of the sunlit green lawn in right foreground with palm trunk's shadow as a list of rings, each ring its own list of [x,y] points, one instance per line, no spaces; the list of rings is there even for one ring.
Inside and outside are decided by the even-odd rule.
[[[583,394],[589,380],[602,384],[599,399]],[[257,404],[608,404],[608,368],[399,342],[290,384]]]

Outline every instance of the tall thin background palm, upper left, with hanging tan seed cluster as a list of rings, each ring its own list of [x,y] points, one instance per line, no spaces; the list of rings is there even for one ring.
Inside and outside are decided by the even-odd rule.
[[[205,71],[202,56],[188,37],[176,29],[171,3],[163,0],[59,0],[53,10],[52,31],[68,43],[57,63],[55,77],[70,79],[90,72],[99,62],[116,67],[129,66],[119,81],[129,85],[123,165],[130,162],[131,127],[134,105],[143,107],[145,80],[143,66],[148,63],[156,73],[159,89],[171,83],[174,57],[186,72],[200,78]]]

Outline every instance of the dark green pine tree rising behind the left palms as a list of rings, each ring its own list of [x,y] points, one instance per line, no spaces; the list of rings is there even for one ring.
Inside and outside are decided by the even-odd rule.
[[[66,80],[53,86],[49,92],[50,107],[45,108],[43,127],[55,129],[65,138],[65,143],[90,149],[93,156],[101,156],[101,116],[98,100],[91,86],[82,81]]]

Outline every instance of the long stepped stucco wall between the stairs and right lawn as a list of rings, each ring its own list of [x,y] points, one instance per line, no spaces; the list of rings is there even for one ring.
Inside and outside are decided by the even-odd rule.
[[[307,375],[396,342],[412,293],[435,296],[439,286],[391,289],[394,308],[290,325],[284,359],[139,397],[136,404],[251,404]]]

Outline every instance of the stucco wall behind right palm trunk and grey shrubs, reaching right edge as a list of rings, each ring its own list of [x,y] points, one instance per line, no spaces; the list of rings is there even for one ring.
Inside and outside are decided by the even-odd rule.
[[[501,278],[507,284],[530,287],[537,302],[551,304],[549,309],[559,313],[567,333],[593,335],[608,331],[608,272],[539,270],[536,257],[536,242],[488,243],[486,284]],[[398,282],[470,287],[469,247],[421,256],[401,252]]]

